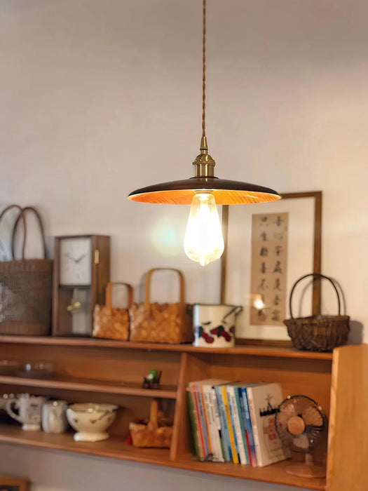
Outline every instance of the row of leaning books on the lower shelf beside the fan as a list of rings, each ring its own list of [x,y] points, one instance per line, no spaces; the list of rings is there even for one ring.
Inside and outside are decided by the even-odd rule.
[[[290,456],[275,430],[280,384],[207,379],[189,382],[186,390],[201,460],[263,467]]]

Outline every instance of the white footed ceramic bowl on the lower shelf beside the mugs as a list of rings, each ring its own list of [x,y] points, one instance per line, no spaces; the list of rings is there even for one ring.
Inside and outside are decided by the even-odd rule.
[[[76,403],[67,408],[69,424],[76,430],[74,440],[97,442],[109,438],[105,430],[114,422],[117,405]]]

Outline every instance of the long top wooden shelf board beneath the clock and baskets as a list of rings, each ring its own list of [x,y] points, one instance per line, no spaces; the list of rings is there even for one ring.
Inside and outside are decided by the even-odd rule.
[[[247,356],[271,356],[280,358],[307,358],[332,360],[332,353],[314,351],[297,351],[293,348],[267,347],[240,344],[233,348],[198,348],[191,344],[158,344],[115,341],[114,339],[97,339],[84,337],[52,337],[52,336],[9,336],[0,335],[0,343],[14,344],[46,344],[54,346],[100,347],[120,349],[142,349],[145,351],[179,351],[186,353],[215,353]]]

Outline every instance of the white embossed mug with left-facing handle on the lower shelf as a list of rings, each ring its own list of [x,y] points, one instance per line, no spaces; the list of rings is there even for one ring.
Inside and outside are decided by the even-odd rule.
[[[22,424],[25,431],[41,430],[41,410],[47,397],[18,394],[15,398],[6,402],[6,412],[13,419]],[[13,411],[18,409],[18,415]]]

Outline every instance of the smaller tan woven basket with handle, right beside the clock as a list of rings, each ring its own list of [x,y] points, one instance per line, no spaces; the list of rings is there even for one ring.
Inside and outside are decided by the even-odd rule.
[[[112,290],[114,286],[122,285],[128,290],[128,308],[112,307]],[[93,337],[105,339],[129,339],[129,310],[133,303],[132,285],[128,283],[107,283],[105,290],[105,305],[95,305],[93,311]]]

